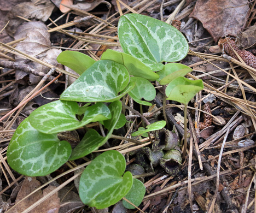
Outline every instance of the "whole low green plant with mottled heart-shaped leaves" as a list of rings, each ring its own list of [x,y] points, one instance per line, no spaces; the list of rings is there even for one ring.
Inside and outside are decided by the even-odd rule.
[[[129,94],[138,104],[152,105],[149,102],[156,91],[150,81],[169,84],[168,98],[182,103],[191,98],[191,91],[187,90],[196,92],[201,88],[197,81],[190,85],[190,81],[184,80],[191,68],[173,63],[188,54],[187,40],[173,26],[144,15],[127,14],[120,17],[118,36],[123,52],[107,50],[100,61],[75,51],[64,51],[57,57],[59,63],[80,76],[61,94],[60,100],[40,106],[16,129],[7,150],[11,168],[28,176],[47,175],[68,160],[99,149],[112,137],[115,128],[125,125],[120,98]],[[184,89],[181,85],[185,85]],[[182,92],[184,100],[176,98],[178,92]],[[92,122],[101,123],[106,136],[86,127]],[[156,131],[166,122],[147,125],[132,135]],[[78,128],[84,128],[86,133],[74,149],[57,137],[58,133]],[[102,209],[125,197],[126,208],[134,208],[126,200],[138,206],[145,188],[142,182],[133,180],[129,171],[125,172],[125,167],[124,156],[113,150],[92,160],[80,178],[82,201]]]

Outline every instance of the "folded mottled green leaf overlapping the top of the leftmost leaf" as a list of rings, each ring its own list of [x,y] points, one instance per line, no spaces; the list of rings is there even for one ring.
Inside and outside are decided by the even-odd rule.
[[[79,121],[76,117],[78,111],[79,106],[76,102],[56,100],[34,110],[28,119],[31,125],[39,132],[53,134],[72,131],[90,122],[103,121],[111,118],[108,107],[103,103],[87,106],[82,121]]]

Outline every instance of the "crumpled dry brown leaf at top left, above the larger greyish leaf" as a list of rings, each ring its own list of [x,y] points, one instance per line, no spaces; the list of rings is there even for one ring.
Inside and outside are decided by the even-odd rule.
[[[7,26],[7,32],[9,35],[13,36],[16,32],[18,26],[25,20],[20,19],[17,16],[25,17],[30,20],[40,20],[45,22],[50,17],[54,9],[54,4],[50,0],[46,0],[45,4],[34,4],[33,2],[24,2],[18,5],[15,5],[5,18],[5,22],[10,20]]]

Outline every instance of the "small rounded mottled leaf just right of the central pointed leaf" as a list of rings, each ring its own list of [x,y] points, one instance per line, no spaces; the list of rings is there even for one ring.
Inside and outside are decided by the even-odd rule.
[[[151,106],[152,104],[141,100],[153,100],[156,92],[155,87],[147,80],[141,77],[131,77],[131,82],[135,82],[135,87],[128,93],[133,100],[139,104]]]

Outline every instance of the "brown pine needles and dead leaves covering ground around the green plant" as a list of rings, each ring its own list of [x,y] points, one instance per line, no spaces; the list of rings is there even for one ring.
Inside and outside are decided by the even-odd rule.
[[[121,6],[122,12],[117,2],[125,3]],[[97,54],[100,51],[95,50],[119,49],[117,37],[115,37],[117,30],[113,26],[117,26],[117,17],[129,10],[129,8],[137,11],[137,13],[166,21],[181,1],[135,2],[119,0],[109,3],[109,1],[92,0],[76,3],[77,6],[73,4],[69,8],[71,9],[69,13],[63,14],[57,10],[57,7],[60,6],[60,1],[0,1],[1,17],[7,15],[5,20],[10,20],[1,33],[0,42],[6,44],[15,39],[15,42],[9,43],[9,45],[13,45],[22,53],[40,60],[40,63],[38,61],[30,61],[24,59],[27,57],[22,54],[14,55],[14,52],[8,53],[6,46],[5,48],[3,46],[0,47],[1,67],[6,67],[0,74],[2,84],[2,88],[0,88],[1,103],[11,102],[14,108],[14,106],[28,98],[27,94],[29,96],[32,95],[31,91],[37,88],[40,78],[49,71],[50,65],[59,66],[59,70],[63,70],[63,67],[56,63],[56,57],[63,50],[62,48],[76,51],[79,49],[80,52],[88,54],[95,60],[101,57],[102,54],[102,52]],[[57,7],[55,6],[56,4]],[[250,3],[247,1],[227,1],[223,6],[223,1],[220,2],[218,0],[207,2],[201,0],[187,1],[187,4],[183,5],[174,17],[177,21],[181,21],[181,32],[185,34],[190,42],[189,55],[182,60],[183,64],[193,68],[193,72],[187,76],[193,79],[203,79],[205,90],[200,92],[189,104],[190,141],[193,141],[193,155],[187,156],[183,162],[182,169],[175,177],[168,175],[159,166],[154,168],[154,172],[141,175],[147,186],[146,196],[139,206],[142,211],[255,211],[255,182],[253,183],[252,180],[255,174],[256,90],[254,87],[256,84],[256,70],[250,63],[247,63],[247,54],[241,54],[242,50],[239,49],[247,49],[248,55],[251,58],[255,58],[255,4],[256,1],[251,1]],[[125,5],[129,5],[129,8]],[[209,8],[211,10],[208,10]],[[90,11],[90,15],[96,15],[97,17],[94,17],[94,22],[89,27],[88,25],[78,26],[82,31],[77,34],[79,31],[74,28],[75,23],[73,20],[78,15],[87,16],[86,11]],[[9,13],[7,14],[7,12]],[[67,25],[66,23],[70,21],[72,24]],[[106,25],[106,22],[109,24]],[[1,21],[1,28],[4,27],[5,23]],[[57,26],[60,27],[57,28]],[[246,29],[246,27],[249,28]],[[70,34],[69,31],[72,30],[73,34]],[[106,35],[108,37],[105,37]],[[224,50],[225,54],[228,55],[222,55],[224,52],[222,53],[221,51],[213,54],[211,50],[217,46],[218,40],[220,38],[226,39],[225,37],[229,36],[233,37],[231,40],[234,40],[234,43],[225,43]],[[18,41],[18,39],[20,40]],[[229,40],[229,38],[226,40]],[[108,46],[106,42],[110,42],[111,46]],[[234,46],[235,44],[237,46]],[[53,49],[51,46],[57,46],[58,48]],[[7,66],[7,63],[13,63],[14,61],[17,63],[15,66]],[[48,64],[48,67],[46,68],[41,61]],[[24,73],[27,69],[34,69],[36,74],[42,73],[42,75],[39,77],[34,75],[33,72]],[[23,73],[23,76],[20,73]],[[32,75],[36,80],[32,79]],[[54,76],[56,75],[54,74]],[[29,78],[26,76],[29,76]],[[32,103],[33,106],[34,103],[37,103],[39,106],[59,97],[67,86],[66,82],[68,81],[65,81],[67,76],[61,76],[57,84],[51,84],[47,88],[46,92],[49,93],[47,97],[50,100],[48,99],[45,102],[44,91],[42,93],[44,97],[37,94],[36,98],[31,100],[28,105]],[[13,83],[10,84],[10,82]],[[68,84],[71,83],[69,82]],[[33,85],[33,88],[30,88],[30,85]],[[159,88],[156,98],[152,102],[158,111],[162,107],[163,95],[161,88]],[[204,99],[211,95],[215,99],[211,103],[204,102]],[[14,97],[19,97],[15,99],[15,104]],[[126,103],[128,103],[128,100]],[[37,105],[34,105],[26,113],[17,111],[15,116],[9,118],[8,122],[6,120],[3,121],[3,130],[0,131],[0,158],[4,165],[4,167],[1,167],[0,173],[0,208],[3,211],[9,209],[9,212],[12,212],[15,209],[16,212],[22,212],[30,208],[38,199],[46,196],[48,199],[34,206],[31,212],[37,212],[37,209],[38,212],[71,212],[73,210],[78,212],[83,208],[86,209],[87,207],[80,202],[78,192],[73,187],[73,182],[70,184],[64,182],[71,180],[74,177],[72,171],[81,168],[84,162],[93,159],[95,153],[92,156],[86,156],[85,159],[67,162],[66,165],[52,173],[50,179],[45,182],[39,182],[39,179],[36,180],[36,178],[24,178],[15,173],[15,171],[10,170],[5,163],[5,153],[10,136],[14,131],[12,127],[16,128],[17,124],[20,123],[19,120],[25,119],[36,107]],[[138,108],[136,103],[132,106],[131,102],[130,107]],[[174,131],[182,138],[184,128],[174,117],[177,115],[184,117],[183,110],[178,103],[169,100],[167,101],[167,108],[168,122],[171,126],[174,126]],[[143,113],[148,113],[150,110],[152,110],[150,106],[145,106]],[[5,114],[6,111],[1,111],[1,116]],[[129,114],[129,111],[126,111],[126,115],[133,116],[132,113]],[[161,113],[152,113],[150,116],[153,120],[162,120]],[[203,118],[208,120],[203,120]],[[210,136],[200,137],[199,123],[207,123],[207,126],[202,125],[205,127],[202,129],[204,131],[209,128],[208,123],[210,124],[211,120],[213,120],[213,123],[210,127],[213,127],[213,129]],[[140,127],[139,119],[135,116],[131,121],[134,123],[133,132],[135,132]],[[93,125],[97,126],[97,123]],[[120,134],[129,134],[127,130],[130,127],[130,123],[127,123],[126,131]],[[84,135],[83,130],[79,129],[78,134],[80,137]],[[145,141],[147,141],[147,138]],[[225,144],[223,144],[223,141],[225,141]],[[120,141],[110,142],[113,146],[121,147]],[[224,146],[221,149],[222,145]],[[136,147],[134,150],[136,150]],[[219,168],[217,166],[220,150],[223,150],[223,154],[220,162],[221,167]],[[128,152],[129,149],[127,148],[121,151],[121,153]],[[126,158],[127,163],[135,161],[135,156],[131,152],[130,156],[126,154]],[[193,162],[192,165],[189,165],[190,169],[188,169],[189,160]],[[75,175],[79,175],[79,173]],[[188,181],[188,176],[191,177],[190,181]],[[61,186],[61,190],[58,190],[59,193],[56,192],[53,196],[47,196],[47,193],[53,192],[56,187],[49,186],[43,192],[40,187],[45,183],[46,185],[51,185],[53,181],[57,181],[57,186]],[[219,193],[216,194],[214,199],[214,191],[216,191],[217,185],[219,186]],[[14,186],[21,186],[20,189],[17,188],[18,193],[12,193],[15,192]],[[188,190],[188,188],[191,188],[191,190]],[[38,191],[35,191],[36,189]],[[12,196],[10,196],[11,194]],[[30,196],[24,202],[18,203],[28,195]],[[190,206],[190,203],[193,205]],[[127,211],[120,207],[117,210],[118,205],[120,206],[121,204],[118,203],[106,211],[112,209],[113,212]],[[13,208],[10,209],[11,207]],[[91,211],[97,212],[95,209],[91,209]],[[129,211],[135,212],[133,210]]]

